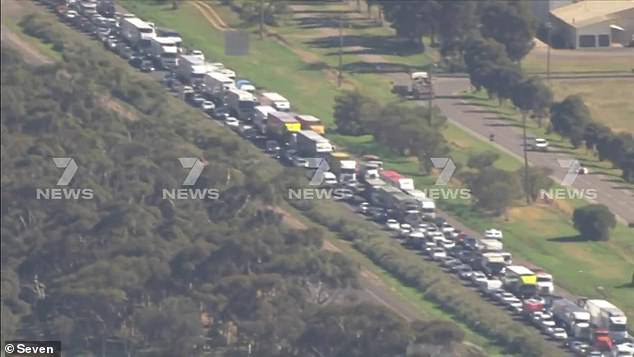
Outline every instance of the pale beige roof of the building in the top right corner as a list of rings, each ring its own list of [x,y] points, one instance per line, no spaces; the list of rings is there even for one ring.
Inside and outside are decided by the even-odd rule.
[[[562,6],[550,13],[574,27],[583,27],[614,18],[614,15],[634,9],[634,0],[585,0]]]

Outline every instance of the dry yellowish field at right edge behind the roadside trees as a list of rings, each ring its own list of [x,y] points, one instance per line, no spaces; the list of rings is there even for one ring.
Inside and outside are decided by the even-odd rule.
[[[632,55],[634,61],[634,54]],[[553,80],[555,100],[580,95],[592,117],[615,131],[634,133],[634,78],[629,80]]]

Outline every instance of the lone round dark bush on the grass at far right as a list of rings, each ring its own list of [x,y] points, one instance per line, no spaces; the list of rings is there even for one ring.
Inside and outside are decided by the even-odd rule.
[[[585,240],[607,241],[610,239],[610,230],[616,227],[614,214],[601,204],[575,209],[572,221]]]

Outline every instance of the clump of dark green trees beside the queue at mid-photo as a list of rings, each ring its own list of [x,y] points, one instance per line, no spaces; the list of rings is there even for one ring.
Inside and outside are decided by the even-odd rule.
[[[423,172],[430,170],[431,157],[449,152],[441,132],[446,118],[438,114],[430,116],[427,108],[398,103],[381,105],[352,91],[335,98],[334,118],[338,133],[373,135],[377,142],[395,152],[417,157]]]

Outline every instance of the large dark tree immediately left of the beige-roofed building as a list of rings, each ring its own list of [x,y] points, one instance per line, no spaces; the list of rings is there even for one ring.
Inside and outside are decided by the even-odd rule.
[[[535,19],[525,1],[489,1],[481,9],[480,21],[482,36],[503,44],[515,62],[534,46]]]

